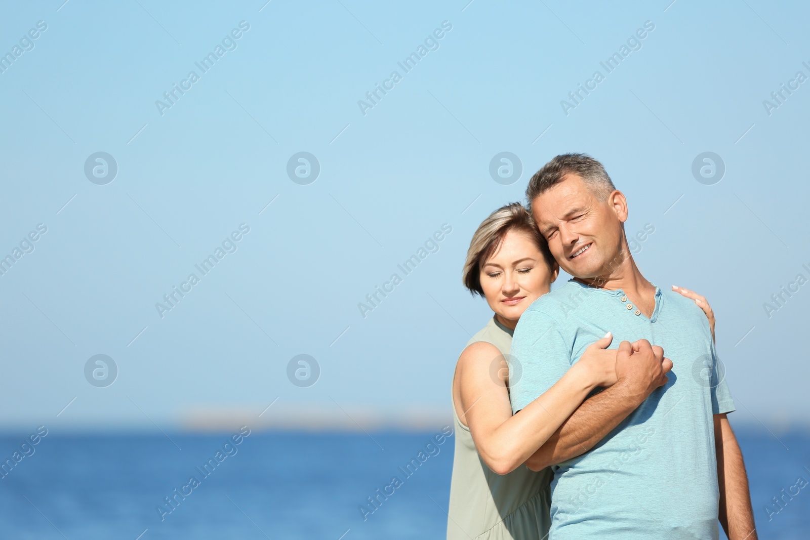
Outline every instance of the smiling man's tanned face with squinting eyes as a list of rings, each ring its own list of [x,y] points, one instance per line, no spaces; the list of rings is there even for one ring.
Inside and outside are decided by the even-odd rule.
[[[582,177],[569,174],[536,197],[531,208],[552,255],[575,278],[609,275],[623,261],[621,233],[627,206],[620,192],[599,201]]]

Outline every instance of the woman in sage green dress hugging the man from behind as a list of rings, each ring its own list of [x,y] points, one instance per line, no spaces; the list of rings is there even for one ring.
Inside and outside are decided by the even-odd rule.
[[[560,381],[520,415],[512,415],[505,357],[518,319],[551,290],[560,268],[520,203],[503,206],[472,237],[463,283],[484,296],[495,312],[458,359],[453,379],[455,453],[450,486],[448,540],[546,538],[551,519],[552,470],[522,464],[534,454],[597,386],[616,382],[616,351],[608,333]],[[702,296],[688,296],[709,317]]]

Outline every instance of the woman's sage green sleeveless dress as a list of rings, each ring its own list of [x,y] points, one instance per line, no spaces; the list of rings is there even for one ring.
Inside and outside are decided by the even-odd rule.
[[[475,334],[474,342],[492,343],[508,355],[512,330],[495,317]],[[450,396],[452,399],[452,388]],[[453,403],[455,453],[450,482],[447,540],[544,540],[551,524],[551,469],[518,466],[509,474],[492,472],[478,455],[470,428],[458,419]]]

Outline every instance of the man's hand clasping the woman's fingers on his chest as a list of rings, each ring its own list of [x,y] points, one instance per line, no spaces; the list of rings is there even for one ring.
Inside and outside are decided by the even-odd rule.
[[[661,347],[646,339],[621,342],[616,355],[616,384],[625,385],[630,395],[643,402],[654,389],[667,384],[672,361],[664,358]]]

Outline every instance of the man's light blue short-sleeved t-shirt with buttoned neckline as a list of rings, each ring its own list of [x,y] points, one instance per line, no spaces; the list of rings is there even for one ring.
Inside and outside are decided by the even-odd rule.
[[[713,415],[735,407],[694,300],[656,287],[648,319],[621,290],[569,280],[541,296],[514,332],[512,410],[551,388],[608,331],[610,348],[644,338],[673,368],[594,449],[553,467],[550,540],[718,538]]]

